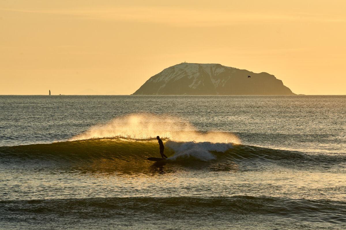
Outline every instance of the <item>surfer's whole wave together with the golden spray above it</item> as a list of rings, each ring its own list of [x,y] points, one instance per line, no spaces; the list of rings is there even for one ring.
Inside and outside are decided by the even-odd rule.
[[[235,164],[245,164],[246,168],[246,165],[254,166],[259,162],[315,168],[346,162],[345,154],[308,154],[243,145],[233,133],[200,132],[177,118],[145,113],[91,127],[69,141],[0,147],[0,162],[25,164],[48,160],[67,168],[140,171],[153,163],[146,158],[160,157],[157,135],[165,144],[165,154],[169,157],[166,163],[205,166],[209,162],[216,165],[214,169],[223,170]]]

